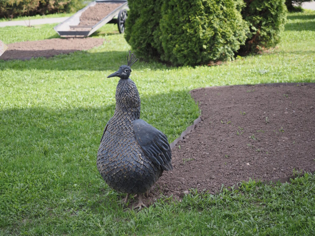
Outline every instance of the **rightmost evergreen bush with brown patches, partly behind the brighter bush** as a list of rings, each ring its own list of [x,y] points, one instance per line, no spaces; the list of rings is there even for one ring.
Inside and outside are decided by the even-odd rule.
[[[246,0],[243,19],[249,23],[250,33],[247,35],[242,51],[256,51],[262,47],[275,46],[284,29],[287,9],[285,0]]]

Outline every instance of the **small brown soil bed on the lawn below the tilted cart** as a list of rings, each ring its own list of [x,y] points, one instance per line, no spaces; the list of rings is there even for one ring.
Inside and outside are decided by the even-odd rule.
[[[52,57],[80,50],[88,50],[102,45],[101,38],[53,38],[39,41],[26,41],[8,44],[8,49],[1,55],[0,60],[20,59],[29,60],[36,57]]]

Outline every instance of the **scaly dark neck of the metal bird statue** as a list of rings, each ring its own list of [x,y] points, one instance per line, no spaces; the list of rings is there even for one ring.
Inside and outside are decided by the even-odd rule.
[[[114,116],[123,115],[130,120],[140,119],[141,101],[137,86],[131,79],[120,79],[116,87]]]

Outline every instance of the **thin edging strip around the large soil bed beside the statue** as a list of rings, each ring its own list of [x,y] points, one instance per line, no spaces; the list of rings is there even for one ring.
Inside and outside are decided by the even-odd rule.
[[[232,87],[232,86],[254,86],[254,85],[258,85],[258,86],[275,86],[275,87],[278,87],[278,86],[281,86],[281,85],[286,85],[286,86],[296,86],[296,85],[299,85],[299,86],[304,86],[304,85],[311,85],[311,86],[315,86],[315,83],[267,83],[267,84],[236,84],[236,85],[226,85],[226,86],[212,86],[211,88],[220,88],[220,87]],[[203,88],[209,88],[209,87],[203,87]],[[193,90],[199,90],[199,89],[203,89],[203,88],[196,88],[196,89],[193,89]],[[192,90],[191,90],[192,91]],[[191,94],[191,91],[189,91],[189,93]],[[184,137],[189,134],[195,127],[198,123],[201,122],[201,116],[198,116],[198,118],[196,120],[194,120],[194,123],[191,125],[191,126],[188,126],[186,128],[185,131],[183,131],[180,135],[180,137],[176,138],[172,143],[169,144],[171,150],[175,147],[175,145],[184,139]],[[315,170],[314,171],[308,171],[307,173],[311,173],[311,174],[314,174],[315,173]],[[290,179],[294,179],[295,177],[301,177],[301,176],[304,176],[304,174],[301,174],[301,175],[297,175],[297,176],[286,176],[286,177],[281,177],[281,178],[277,178],[277,179],[272,179],[272,180],[265,180],[265,181],[262,181],[262,184],[275,184],[277,182],[280,182],[280,183],[290,183]],[[240,183],[240,182],[239,182]],[[237,183],[238,184],[238,183]],[[232,187],[225,187],[227,188],[229,191],[232,191]],[[238,186],[234,186],[233,189],[239,189]],[[185,194],[189,194],[189,191],[184,191],[182,194],[180,194],[181,197],[183,197]]]

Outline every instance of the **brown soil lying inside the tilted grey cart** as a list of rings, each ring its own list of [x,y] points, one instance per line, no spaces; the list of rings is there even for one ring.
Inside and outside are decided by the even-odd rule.
[[[96,25],[100,20],[122,4],[123,3],[96,3],[82,13],[79,25]]]

